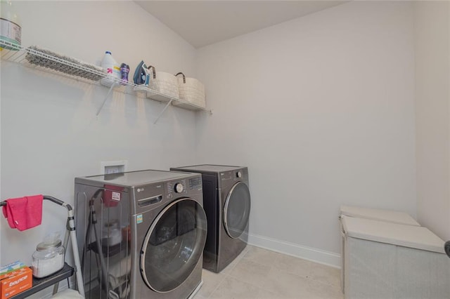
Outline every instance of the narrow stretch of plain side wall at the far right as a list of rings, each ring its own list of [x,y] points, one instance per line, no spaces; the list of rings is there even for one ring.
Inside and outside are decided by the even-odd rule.
[[[450,4],[414,2],[418,220],[450,239]]]

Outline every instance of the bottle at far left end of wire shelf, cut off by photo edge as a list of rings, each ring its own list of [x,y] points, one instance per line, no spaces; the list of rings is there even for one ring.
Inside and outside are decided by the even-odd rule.
[[[0,39],[20,46],[22,42],[22,27],[20,27],[20,19],[11,0],[0,1],[0,13]],[[17,50],[17,48],[8,46],[3,48]]]

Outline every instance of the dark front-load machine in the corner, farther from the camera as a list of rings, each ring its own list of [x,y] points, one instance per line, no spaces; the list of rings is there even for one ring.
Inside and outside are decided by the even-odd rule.
[[[247,246],[251,203],[248,168],[203,164],[170,170],[202,175],[208,225],[203,267],[220,272]]]

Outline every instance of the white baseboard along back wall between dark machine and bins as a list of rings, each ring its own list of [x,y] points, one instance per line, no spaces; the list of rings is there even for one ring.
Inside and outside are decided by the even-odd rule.
[[[259,236],[257,234],[248,234],[248,244],[292,255],[297,258],[303,258],[304,260],[311,260],[323,265],[340,268],[340,254],[338,253]]]

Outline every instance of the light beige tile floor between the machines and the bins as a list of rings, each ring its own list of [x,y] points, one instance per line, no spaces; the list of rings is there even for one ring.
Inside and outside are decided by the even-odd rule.
[[[205,298],[344,298],[340,270],[248,245],[222,272],[203,270]]]

